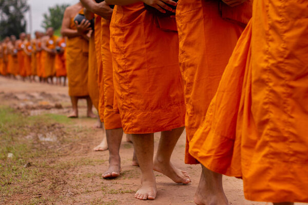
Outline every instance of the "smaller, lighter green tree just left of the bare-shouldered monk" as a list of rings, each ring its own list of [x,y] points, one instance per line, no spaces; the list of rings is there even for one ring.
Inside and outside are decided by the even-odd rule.
[[[45,29],[52,27],[54,30],[61,28],[64,11],[68,6],[68,4],[63,4],[48,8],[48,13],[43,15],[42,27]]]

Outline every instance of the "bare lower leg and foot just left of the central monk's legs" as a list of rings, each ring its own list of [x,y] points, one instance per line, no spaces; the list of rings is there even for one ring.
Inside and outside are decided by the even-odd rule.
[[[115,178],[120,176],[121,158],[120,146],[123,136],[123,129],[106,130],[106,138],[109,150],[109,168],[103,174],[103,178]]]

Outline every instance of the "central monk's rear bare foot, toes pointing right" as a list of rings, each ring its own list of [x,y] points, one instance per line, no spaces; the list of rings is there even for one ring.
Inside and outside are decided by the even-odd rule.
[[[176,183],[184,183],[186,185],[191,182],[188,173],[176,168],[170,161],[168,163],[161,163],[155,159],[153,162],[153,170],[166,175]]]

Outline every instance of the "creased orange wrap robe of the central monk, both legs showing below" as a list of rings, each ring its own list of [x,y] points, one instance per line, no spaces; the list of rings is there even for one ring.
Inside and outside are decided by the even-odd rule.
[[[159,28],[155,16],[136,3],[115,6],[110,36],[114,89],[125,133],[183,127],[177,32]]]

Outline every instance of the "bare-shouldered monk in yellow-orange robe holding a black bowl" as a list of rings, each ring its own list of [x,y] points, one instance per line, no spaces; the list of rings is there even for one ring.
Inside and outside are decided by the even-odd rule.
[[[97,116],[92,112],[92,101],[87,88],[90,23],[85,19],[81,24],[74,22],[74,17],[83,13],[83,9],[80,2],[67,7],[62,22],[61,33],[67,37],[66,66],[72,103],[72,112],[68,117],[78,117],[78,99],[86,98],[87,116],[95,118]]]

